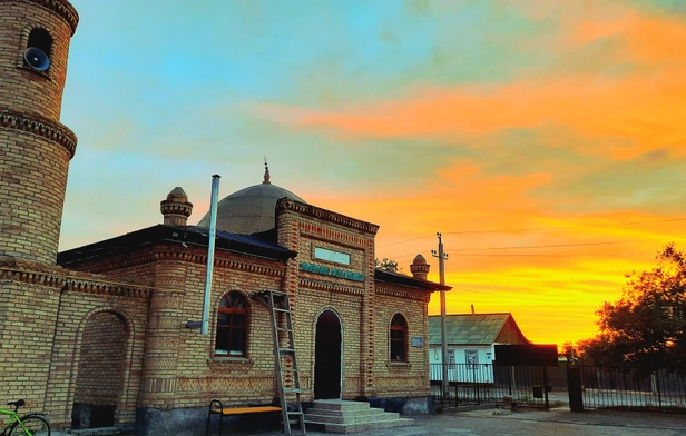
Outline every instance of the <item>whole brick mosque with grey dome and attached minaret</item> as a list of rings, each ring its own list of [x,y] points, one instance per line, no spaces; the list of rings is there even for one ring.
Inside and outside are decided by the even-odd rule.
[[[427,280],[421,255],[412,276],[376,269],[379,226],[307,204],[267,168],[217,205],[206,335],[195,327],[210,219],[188,224],[182,188],[160,202],[163,224],[58,254],[77,145],[59,112],[78,13],[67,0],[3,0],[0,17],[11,17],[0,19],[7,400],[24,398],[55,428],[135,425],[138,435],[197,427],[212,398],[272,404],[277,318],[261,296],[277,291],[290,300],[303,402],[429,408],[428,303],[450,288]]]

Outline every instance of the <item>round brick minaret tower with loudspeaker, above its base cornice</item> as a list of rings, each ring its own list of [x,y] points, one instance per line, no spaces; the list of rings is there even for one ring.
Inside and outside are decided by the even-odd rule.
[[[59,122],[78,13],[0,0],[0,258],[55,265],[77,139]]]

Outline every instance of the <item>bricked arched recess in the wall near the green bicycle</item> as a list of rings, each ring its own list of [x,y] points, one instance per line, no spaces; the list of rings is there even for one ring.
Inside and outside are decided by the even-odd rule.
[[[124,390],[127,328],[118,314],[94,314],[79,349],[71,428],[110,427]]]

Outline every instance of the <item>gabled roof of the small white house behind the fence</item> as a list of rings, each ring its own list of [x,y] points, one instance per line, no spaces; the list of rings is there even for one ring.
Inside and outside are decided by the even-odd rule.
[[[507,335],[510,331],[514,337]],[[502,334],[502,335],[501,335]],[[509,337],[509,338],[506,338]],[[529,344],[512,314],[454,314],[445,316],[445,340],[452,345]],[[441,344],[441,316],[429,317],[429,344]]]

